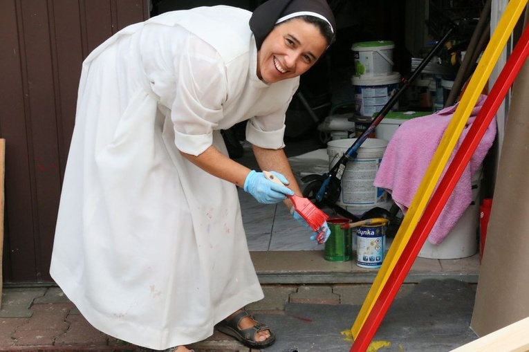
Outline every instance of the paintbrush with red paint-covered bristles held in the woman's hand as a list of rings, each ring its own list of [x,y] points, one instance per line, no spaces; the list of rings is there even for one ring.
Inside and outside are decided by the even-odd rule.
[[[278,185],[285,186],[284,183],[279,180],[279,178],[273,174],[270,174],[270,172],[263,171],[263,174],[266,178],[268,178],[268,180],[271,180]],[[317,242],[322,243],[326,231],[326,229],[322,229],[322,225],[328,219],[327,214],[322,212],[322,210],[314,205],[314,203],[308,198],[296,196],[295,194],[293,196],[287,195],[287,197],[293,203],[294,210],[297,212],[297,214],[299,214],[308,223],[311,229],[318,233],[316,236]]]

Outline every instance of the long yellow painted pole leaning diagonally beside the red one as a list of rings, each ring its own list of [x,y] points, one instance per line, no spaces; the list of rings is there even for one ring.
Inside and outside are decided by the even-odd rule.
[[[505,7],[498,26],[490,37],[489,44],[485,48],[483,56],[476,67],[476,71],[474,71],[474,75],[472,75],[467,89],[465,89],[465,93],[463,93],[461,101],[454,112],[454,117],[448,124],[443,138],[440,140],[439,146],[411,201],[411,205],[400,225],[396,237],[393,239],[393,243],[391,243],[391,248],[387,252],[384,261],[382,261],[382,266],[373,281],[373,285],[364,300],[364,304],[362,304],[362,308],[360,308],[360,312],[351,328],[353,338],[358,336],[367,316],[373,309],[375,301],[380,296],[382,288],[387,283],[389,275],[393,271],[393,268],[395,268],[402,251],[407,246],[411,234],[413,234],[420,216],[423,215],[431,194],[434,192],[438,180],[447,165],[448,159],[452,155],[452,151],[454,151],[454,147],[470,117],[470,113],[472,113],[472,109],[474,109],[479,95],[483,91],[490,77],[490,73],[498,61],[499,55],[526,7],[527,2],[528,0],[510,0]]]

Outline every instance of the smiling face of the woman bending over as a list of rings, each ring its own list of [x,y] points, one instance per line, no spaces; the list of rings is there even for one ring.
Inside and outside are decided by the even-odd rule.
[[[257,52],[257,76],[267,83],[306,72],[323,55],[327,41],[313,24],[290,19],[275,26]]]

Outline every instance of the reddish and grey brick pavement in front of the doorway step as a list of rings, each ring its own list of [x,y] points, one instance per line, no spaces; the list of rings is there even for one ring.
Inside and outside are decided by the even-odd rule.
[[[255,314],[284,314],[288,302],[362,304],[369,286],[264,285],[265,299],[246,308]],[[189,348],[196,352],[257,352],[218,332]],[[0,351],[132,352],[135,349],[136,346],[93,328],[57,287],[3,289]]]

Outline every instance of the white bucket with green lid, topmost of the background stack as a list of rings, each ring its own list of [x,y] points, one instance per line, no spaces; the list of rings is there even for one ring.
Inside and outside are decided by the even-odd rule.
[[[393,41],[363,41],[351,47],[357,77],[379,77],[393,72]]]

